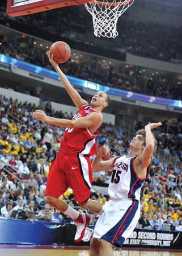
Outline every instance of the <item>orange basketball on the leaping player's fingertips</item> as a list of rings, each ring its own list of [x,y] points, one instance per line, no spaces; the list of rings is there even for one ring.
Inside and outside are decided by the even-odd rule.
[[[57,63],[64,63],[67,60],[69,60],[69,57],[71,55],[71,49],[68,44],[65,42],[55,42],[50,46],[50,56],[53,54],[53,59]]]

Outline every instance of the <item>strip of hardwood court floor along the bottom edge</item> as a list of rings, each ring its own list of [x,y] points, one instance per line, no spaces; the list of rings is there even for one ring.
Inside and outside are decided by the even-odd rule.
[[[118,249],[115,256],[181,256],[181,250]],[[89,256],[89,247],[0,245],[0,255],[6,256]]]

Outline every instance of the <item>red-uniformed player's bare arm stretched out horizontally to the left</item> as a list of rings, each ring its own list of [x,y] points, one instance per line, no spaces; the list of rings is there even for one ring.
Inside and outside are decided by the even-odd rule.
[[[98,112],[91,113],[86,117],[81,117],[74,121],[69,119],[59,119],[55,117],[49,117],[43,110],[37,109],[33,112],[32,117],[39,119],[41,122],[52,123],[52,125],[62,126],[65,128],[85,128],[88,127],[91,131],[95,131],[100,123],[103,121],[103,115]]]

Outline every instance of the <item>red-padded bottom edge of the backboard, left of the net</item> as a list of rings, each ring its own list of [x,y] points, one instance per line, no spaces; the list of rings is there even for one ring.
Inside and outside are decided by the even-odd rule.
[[[6,14],[22,16],[69,5],[83,5],[89,0],[7,0]]]

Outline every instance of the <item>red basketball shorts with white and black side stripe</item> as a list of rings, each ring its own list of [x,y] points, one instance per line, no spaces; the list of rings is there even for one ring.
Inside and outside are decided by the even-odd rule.
[[[74,199],[83,203],[90,198],[91,184],[92,168],[88,156],[60,149],[50,166],[45,195],[58,198],[70,187]]]

